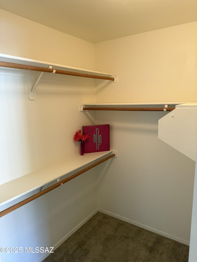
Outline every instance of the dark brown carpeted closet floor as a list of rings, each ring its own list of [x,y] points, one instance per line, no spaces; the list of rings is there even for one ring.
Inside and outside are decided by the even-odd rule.
[[[43,262],[188,262],[189,246],[96,213]]]

